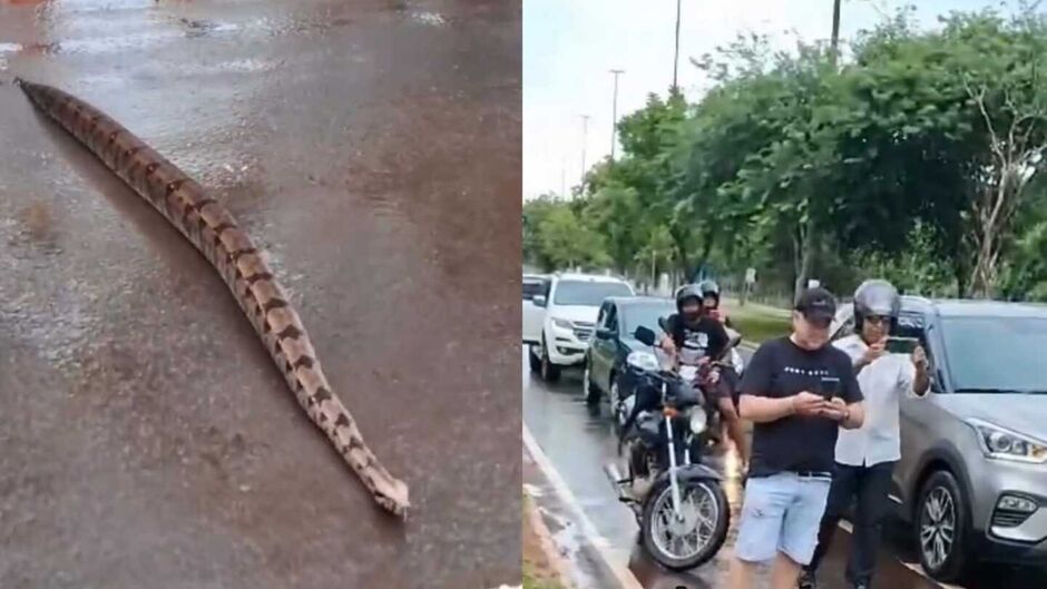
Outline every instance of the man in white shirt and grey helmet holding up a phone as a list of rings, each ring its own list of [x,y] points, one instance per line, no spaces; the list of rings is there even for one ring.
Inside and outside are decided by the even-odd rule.
[[[930,386],[927,355],[919,344],[911,354],[885,351],[900,308],[901,297],[889,282],[865,281],[854,293],[854,334],[834,343],[854,364],[865,399],[865,421],[857,430],[841,429],[836,438],[836,472],[819,546],[800,578],[800,589],[814,589],[818,565],[829,550],[840,517],[854,500],[854,536],[845,576],[855,589],[872,586],[880,523],[890,505],[891,474],[901,458],[899,400],[902,395],[923,396]]]

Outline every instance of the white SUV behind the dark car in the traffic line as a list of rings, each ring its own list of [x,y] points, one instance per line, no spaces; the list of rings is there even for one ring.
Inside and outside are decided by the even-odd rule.
[[[541,323],[526,322],[524,341],[531,343],[531,370],[552,382],[559,379],[560,369],[585,362],[604,300],[636,296],[636,292],[629,283],[614,276],[556,274],[547,279],[548,294],[531,301],[545,308]]]

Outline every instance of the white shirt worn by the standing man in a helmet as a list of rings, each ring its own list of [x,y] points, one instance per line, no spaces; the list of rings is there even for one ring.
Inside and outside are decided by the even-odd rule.
[[[854,362],[869,346],[858,335],[836,340],[833,345]],[[858,373],[858,385],[865,397],[865,420],[858,430],[840,429],[836,462],[851,467],[871,467],[901,458],[898,424],[899,399],[916,396],[912,391],[916,366],[908,354],[883,354]]]

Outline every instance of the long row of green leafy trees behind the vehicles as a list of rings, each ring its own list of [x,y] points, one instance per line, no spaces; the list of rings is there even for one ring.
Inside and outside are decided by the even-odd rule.
[[[1047,298],[1047,17],[912,22],[900,10],[839,67],[824,43],[759,36],[695,60],[715,86],[623,118],[622,157],[527,247],[645,276],[715,261],[780,286]]]

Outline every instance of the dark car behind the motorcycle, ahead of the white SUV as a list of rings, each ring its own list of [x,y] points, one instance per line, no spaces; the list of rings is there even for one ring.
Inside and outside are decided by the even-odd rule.
[[[617,404],[618,375],[624,372],[625,359],[630,352],[650,350],[633,337],[636,328],[644,326],[662,333],[658,318],[673,313],[676,313],[676,303],[671,298],[611,297],[604,301],[585,359],[583,386],[589,404],[599,403],[605,394],[611,408]]]

